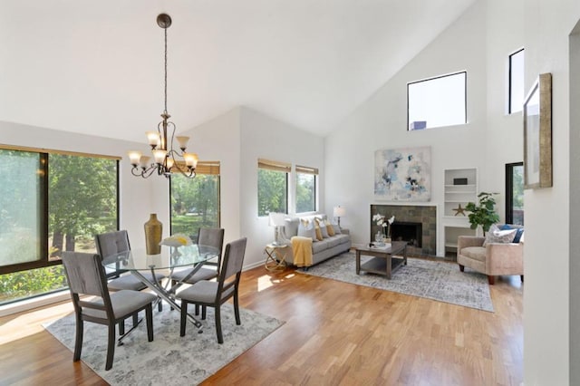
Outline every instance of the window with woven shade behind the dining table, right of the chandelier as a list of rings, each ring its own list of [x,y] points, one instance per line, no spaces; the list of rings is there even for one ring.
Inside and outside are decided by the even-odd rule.
[[[171,175],[170,205],[172,235],[195,239],[200,227],[219,225],[219,162],[198,162],[195,179]]]

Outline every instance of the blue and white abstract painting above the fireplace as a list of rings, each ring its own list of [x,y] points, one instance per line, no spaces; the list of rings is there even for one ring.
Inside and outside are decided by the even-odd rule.
[[[430,147],[376,150],[374,198],[430,201]]]

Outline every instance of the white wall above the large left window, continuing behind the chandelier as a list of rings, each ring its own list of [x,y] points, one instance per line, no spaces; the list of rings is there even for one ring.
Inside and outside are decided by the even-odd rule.
[[[126,154],[128,150],[147,150],[143,138],[143,143],[133,143],[0,121],[2,144],[122,157],[120,223],[121,228],[127,229],[131,236],[131,246],[145,245],[143,224],[149,219],[150,213],[158,213],[164,225],[164,235],[169,232],[168,200],[158,199],[163,194],[167,195],[167,190],[163,190],[163,187],[167,189],[165,178],[140,179],[131,175],[131,164]]]

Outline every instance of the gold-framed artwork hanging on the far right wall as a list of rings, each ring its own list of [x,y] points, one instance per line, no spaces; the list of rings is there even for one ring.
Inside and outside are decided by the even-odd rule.
[[[552,186],[552,74],[538,76],[524,101],[524,188]]]

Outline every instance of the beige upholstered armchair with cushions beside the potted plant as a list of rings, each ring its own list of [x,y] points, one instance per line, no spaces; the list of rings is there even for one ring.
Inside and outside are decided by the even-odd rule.
[[[510,230],[515,229],[515,232]],[[513,234],[513,235],[512,235]],[[488,275],[489,285],[497,275],[520,275],[524,281],[523,227],[498,224],[490,228],[487,236],[459,236],[457,262],[459,270],[469,267]]]

